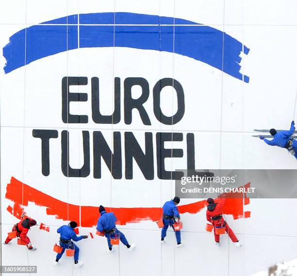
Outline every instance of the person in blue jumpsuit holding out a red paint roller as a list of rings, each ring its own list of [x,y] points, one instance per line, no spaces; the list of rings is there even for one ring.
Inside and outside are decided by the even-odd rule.
[[[77,227],[75,221],[71,221],[68,225],[63,225],[58,228],[57,232],[60,234],[60,246],[63,247],[61,253],[57,254],[55,265],[58,264],[58,261],[61,259],[62,255],[65,252],[65,249],[74,249],[74,267],[82,266],[83,262],[78,261],[80,249],[71,241],[78,242],[82,239],[87,239],[88,236],[77,236],[74,232],[74,228]]]

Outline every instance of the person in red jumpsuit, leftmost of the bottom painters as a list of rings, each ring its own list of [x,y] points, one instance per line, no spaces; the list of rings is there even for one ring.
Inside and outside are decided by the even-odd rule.
[[[19,237],[24,243],[27,244],[27,247],[29,250],[34,251],[37,248],[33,248],[29,237],[27,236],[27,233],[30,229],[30,227],[36,225],[36,221],[33,220],[32,218],[26,217],[24,219],[22,219],[19,223],[17,223],[16,225],[14,225],[12,231],[15,232],[16,231],[16,237]],[[4,244],[8,244],[12,239],[10,238],[6,238]]]

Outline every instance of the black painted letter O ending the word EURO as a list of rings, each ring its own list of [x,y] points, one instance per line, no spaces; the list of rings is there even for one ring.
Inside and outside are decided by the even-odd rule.
[[[178,100],[178,110],[176,114],[171,117],[165,116],[160,107],[160,93],[165,86],[173,86]],[[165,125],[174,125],[178,123],[184,114],[184,94],[181,83],[170,78],[165,78],[158,81],[153,88],[154,97],[154,114],[159,122]]]

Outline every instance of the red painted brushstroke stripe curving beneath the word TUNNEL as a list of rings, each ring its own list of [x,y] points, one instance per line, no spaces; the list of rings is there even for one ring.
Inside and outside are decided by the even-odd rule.
[[[249,185],[249,183],[247,184]],[[23,191],[23,195],[22,195]],[[38,206],[46,207],[48,215],[55,215],[57,219],[73,220],[78,222],[82,227],[93,227],[97,225],[99,218],[99,207],[95,206],[78,206],[67,204],[52,196],[44,194],[27,184],[23,184],[14,177],[11,182],[7,184],[5,198],[15,202],[14,215],[16,217],[21,214],[22,206],[28,206],[29,202],[33,202]],[[197,213],[206,206],[206,200],[201,200],[195,203],[179,206],[180,213]],[[244,198],[227,198],[224,205],[224,213],[233,215],[234,219],[244,217]],[[67,207],[69,210],[69,217],[67,217]],[[16,208],[16,212],[15,212]],[[81,208],[81,222],[80,219]],[[118,219],[118,224],[125,225],[127,223],[138,223],[141,220],[158,221],[162,215],[162,208],[109,208],[106,210],[115,213]]]

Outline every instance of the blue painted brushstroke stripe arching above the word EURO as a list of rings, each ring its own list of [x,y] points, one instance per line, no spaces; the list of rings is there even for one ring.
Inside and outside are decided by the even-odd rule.
[[[79,16],[80,24],[84,24],[79,26],[80,48],[113,47],[115,30],[115,47],[174,51],[177,54],[211,65],[234,78],[244,79],[245,82],[249,81],[247,76],[243,76],[239,72],[241,68],[239,55],[242,48],[245,54],[248,54],[249,49],[227,33],[209,26],[180,18],[132,13],[97,13]],[[5,73],[67,49],[77,49],[77,18],[78,15],[57,18],[43,23],[54,25],[34,25],[12,35],[9,44],[3,48],[3,55],[6,59]],[[76,25],[63,25],[66,22]],[[114,24],[114,22],[119,25],[134,24],[138,26],[90,25]],[[163,25],[170,25],[173,22],[175,22],[175,27]],[[189,24],[196,26],[187,26]],[[25,35],[27,35],[26,62]],[[222,64],[223,54],[224,64]]]

